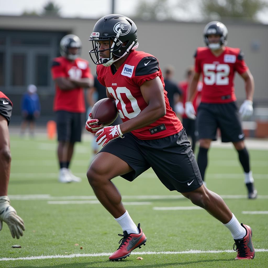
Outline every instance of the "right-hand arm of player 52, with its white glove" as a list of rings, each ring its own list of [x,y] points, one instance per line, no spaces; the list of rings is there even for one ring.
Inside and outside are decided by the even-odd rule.
[[[249,69],[242,73],[241,77],[245,81],[246,99],[241,105],[239,113],[241,114],[242,118],[247,118],[253,114],[252,100],[254,93],[254,79]]]

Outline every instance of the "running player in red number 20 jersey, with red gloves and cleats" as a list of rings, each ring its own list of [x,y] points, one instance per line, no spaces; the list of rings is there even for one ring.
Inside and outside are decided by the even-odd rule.
[[[240,225],[222,198],[203,186],[183,126],[169,106],[158,60],[135,50],[135,23],[122,15],[107,15],[97,21],[90,40],[98,80],[106,87],[107,96],[115,99],[123,121],[103,127],[90,114],[86,123],[86,129],[105,146],[88,169],[88,181],[123,230],[121,244],[109,259],[126,258],[146,242],[111,179],[121,176],[133,181],[150,167],[170,191],[181,192],[226,225],[235,239],[237,258],[254,258],[251,228]]]

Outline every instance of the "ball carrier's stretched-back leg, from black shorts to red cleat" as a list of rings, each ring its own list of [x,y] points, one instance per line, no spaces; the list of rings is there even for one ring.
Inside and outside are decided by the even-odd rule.
[[[158,145],[159,149],[161,149],[158,152],[158,158],[154,153],[150,153],[151,151],[153,152],[154,148],[157,148],[157,144],[151,146],[152,149],[147,153],[147,160],[158,178],[169,190],[181,192],[193,204],[206,209],[221,221],[231,231],[235,239],[239,251],[238,257],[242,258],[246,252],[247,257],[253,258],[254,248],[251,242],[250,233],[252,232],[250,227],[240,225],[224,200],[203,185],[198,165],[184,130],[180,131],[178,135],[174,135],[174,137],[170,136],[161,139],[161,142],[166,139],[170,139],[170,142],[166,142],[166,146],[163,144],[160,148]],[[153,142],[150,141],[151,145],[154,145],[152,144]],[[172,157],[168,157],[170,153],[172,153]],[[160,162],[162,163],[161,165],[159,164]],[[245,242],[247,239],[250,239],[249,246]],[[252,252],[251,248],[253,248]]]

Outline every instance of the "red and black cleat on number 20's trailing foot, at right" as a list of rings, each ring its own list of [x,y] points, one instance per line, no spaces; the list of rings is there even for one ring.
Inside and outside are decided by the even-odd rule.
[[[246,229],[246,235],[241,239],[235,239],[235,244],[233,246],[233,249],[237,251],[235,259],[254,259],[255,250],[252,244],[252,230],[248,225],[244,225],[243,223],[241,223],[241,225]]]

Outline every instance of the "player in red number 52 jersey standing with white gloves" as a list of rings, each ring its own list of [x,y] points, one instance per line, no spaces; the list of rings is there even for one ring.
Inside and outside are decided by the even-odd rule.
[[[256,198],[257,191],[254,189],[249,154],[245,148],[233,79],[235,72],[238,72],[245,81],[246,100],[239,110],[242,117],[249,117],[253,113],[254,80],[241,50],[225,46],[227,35],[227,28],[219,21],[212,21],[206,25],[204,41],[207,47],[199,47],[196,51],[195,73],[189,88],[188,102],[185,103],[185,113],[189,118],[195,118],[191,101],[202,73],[203,90],[198,108],[200,148],[197,159],[202,179],[204,181],[207,152],[211,141],[216,140],[216,131],[219,128],[222,142],[232,142],[238,152],[244,169],[248,198],[252,199]]]

